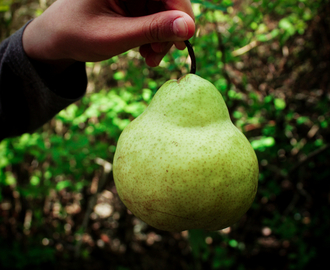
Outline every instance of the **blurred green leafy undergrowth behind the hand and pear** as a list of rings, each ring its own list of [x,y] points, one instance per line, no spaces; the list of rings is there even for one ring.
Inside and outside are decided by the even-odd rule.
[[[0,39],[52,2],[0,0]],[[197,74],[221,92],[258,156],[251,209],[221,231],[169,233],[124,207],[111,172],[118,137],[164,82],[190,68],[187,50],[173,49],[157,68],[131,50],[87,63],[81,101],[38,132],[0,143],[0,269],[324,269],[330,3],[192,3]]]

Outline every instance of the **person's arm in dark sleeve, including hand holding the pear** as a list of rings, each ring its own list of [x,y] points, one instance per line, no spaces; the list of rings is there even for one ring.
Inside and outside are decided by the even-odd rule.
[[[33,132],[82,97],[84,62],[140,47],[157,66],[194,31],[189,0],[55,1],[1,44],[0,140]]]

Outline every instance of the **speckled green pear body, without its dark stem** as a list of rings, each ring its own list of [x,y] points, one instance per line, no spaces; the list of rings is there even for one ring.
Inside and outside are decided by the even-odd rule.
[[[250,208],[258,161],[219,91],[188,74],[166,82],[124,129],[113,175],[123,203],[149,225],[220,230]]]

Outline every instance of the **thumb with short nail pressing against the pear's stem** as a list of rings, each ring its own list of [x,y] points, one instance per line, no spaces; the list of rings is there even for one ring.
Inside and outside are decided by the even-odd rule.
[[[182,11],[163,11],[136,18],[134,31],[138,46],[156,42],[184,41],[195,32],[194,20]]]

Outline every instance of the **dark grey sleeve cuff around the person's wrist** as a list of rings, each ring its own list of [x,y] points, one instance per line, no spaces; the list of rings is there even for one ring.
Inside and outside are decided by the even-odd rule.
[[[61,74],[33,63],[23,50],[26,25],[0,44],[0,141],[34,132],[86,91],[85,63]]]

